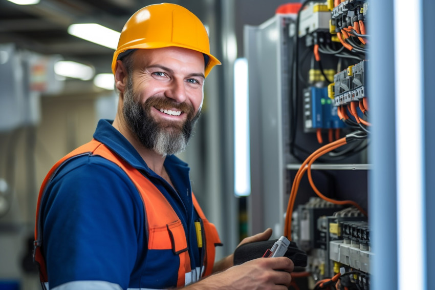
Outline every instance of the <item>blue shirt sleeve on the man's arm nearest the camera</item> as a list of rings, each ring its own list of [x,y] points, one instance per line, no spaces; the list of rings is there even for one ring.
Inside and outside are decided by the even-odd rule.
[[[83,156],[66,164],[47,188],[43,250],[50,288],[72,281],[128,287],[143,233],[143,203],[114,163]]]

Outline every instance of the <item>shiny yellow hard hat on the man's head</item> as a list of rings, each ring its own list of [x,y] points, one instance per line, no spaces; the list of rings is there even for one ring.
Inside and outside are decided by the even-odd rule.
[[[186,8],[169,3],[154,4],[138,10],[121,31],[113,55],[112,72],[121,53],[130,49],[183,47],[199,51],[207,61],[205,76],[221,62],[210,54],[207,31],[201,20]]]

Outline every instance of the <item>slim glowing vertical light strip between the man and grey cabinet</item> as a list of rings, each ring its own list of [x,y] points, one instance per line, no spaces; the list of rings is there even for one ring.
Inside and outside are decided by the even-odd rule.
[[[234,193],[251,193],[249,160],[248,61],[234,61]]]

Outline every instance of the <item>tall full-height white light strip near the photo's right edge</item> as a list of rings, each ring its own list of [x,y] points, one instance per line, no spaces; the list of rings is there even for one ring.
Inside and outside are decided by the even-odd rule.
[[[394,2],[398,285],[401,290],[426,289],[421,19],[420,0]]]

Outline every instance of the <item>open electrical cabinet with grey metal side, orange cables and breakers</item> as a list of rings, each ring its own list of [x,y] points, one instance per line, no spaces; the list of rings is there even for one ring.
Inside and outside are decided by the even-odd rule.
[[[272,227],[307,253],[293,280],[301,290],[370,288],[368,4],[293,3],[298,13],[244,30],[249,230]]]

